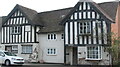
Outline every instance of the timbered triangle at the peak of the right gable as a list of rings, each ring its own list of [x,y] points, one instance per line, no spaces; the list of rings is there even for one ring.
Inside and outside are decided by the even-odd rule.
[[[94,20],[100,18],[98,12],[94,10],[94,8],[87,2],[82,2],[74,11],[74,13],[70,16],[71,20]]]

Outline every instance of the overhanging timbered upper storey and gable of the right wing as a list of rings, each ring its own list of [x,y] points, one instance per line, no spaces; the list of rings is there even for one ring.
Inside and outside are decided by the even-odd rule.
[[[91,2],[78,2],[63,20],[65,45],[107,45],[111,18]]]

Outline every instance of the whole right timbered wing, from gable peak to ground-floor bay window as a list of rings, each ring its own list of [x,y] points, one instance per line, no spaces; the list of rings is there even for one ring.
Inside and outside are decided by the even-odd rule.
[[[80,0],[61,22],[65,34],[64,62],[77,64],[79,60],[79,64],[110,64],[109,53],[104,47],[110,45],[108,35],[113,22],[96,3]]]

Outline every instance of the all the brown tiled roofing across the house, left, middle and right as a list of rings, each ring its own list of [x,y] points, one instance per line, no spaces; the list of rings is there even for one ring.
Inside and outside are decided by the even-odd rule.
[[[92,4],[95,5],[95,7],[98,8],[98,10],[100,10],[109,20],[115,21],[118,5],[117,2],[104,2],[98,4],[92,2]],[[16,5],[15,8],[20,9],[32,24],[43,26],[38,33],[63,31],[64,26],[59,25],[59,23],[74,9],[73,7],[70,7],[37,13],[35,10],[23,7],[21,5]],[[12,15],[12,13],[10,13],[8,17],[10,15]]]

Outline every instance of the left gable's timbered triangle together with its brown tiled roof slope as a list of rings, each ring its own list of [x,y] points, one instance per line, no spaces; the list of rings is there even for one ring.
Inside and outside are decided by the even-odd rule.
[[[9,21],[12,24],[17,23],[17,20],[15,19],[19,18],[18,20],[20,24],[43,26],[37,14],[38,13],[35,10],[29,9],[17,4],[14,7],[14,9],[8,14],[8,16],[3,20],[3,25],[7,25],[7,24],[9,25],[10,24]],[[11,21],[11,18],[15,18],[14,21]],[[20,18],[22,19],[20,20]]]

